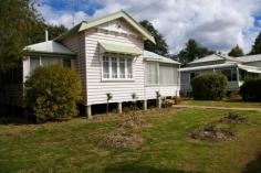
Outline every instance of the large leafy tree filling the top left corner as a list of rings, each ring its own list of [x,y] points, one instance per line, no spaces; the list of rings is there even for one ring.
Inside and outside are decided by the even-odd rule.
[[[14,66],[39,20],[30,0],[4,0],[0,6],[0,71]]]

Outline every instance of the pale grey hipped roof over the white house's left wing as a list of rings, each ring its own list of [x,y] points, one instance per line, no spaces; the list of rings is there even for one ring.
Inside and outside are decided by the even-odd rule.
[[[28,52],[75,55],[67,47],[54,41],[46,41],[36,44],[31,44],[25,46],[23,50]]]

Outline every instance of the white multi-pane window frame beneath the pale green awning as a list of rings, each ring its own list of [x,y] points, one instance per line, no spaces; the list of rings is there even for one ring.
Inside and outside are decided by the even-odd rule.
[[[108,57],[108,73],[109,73],[109,77],[108,78],[105,78],[103,76],[103,56],[107,56]],[[116,57],[117,60],[117,78],[113,78],[112,76],[112,57]],[[124,72],[125,72],[125,78],[121,78],[121,69],[119,69],[119,58],[123,57],[125,60],[125,66],[124,66]],[[133,73],[133,77],[132,78],[128,78],[128,75],[127,75],[127,60],[132,60],[132,73]],[[106,53],[106,54],[101,54],[101,57],[100,57],[100,62],[101,62],[101,69],[102,69],[102,73],[101,73],[101,77],[102,77],[102,82],[134,82],[134,58],[135,56],[130,56],[130,55],[125,55],[125,54],[109,54],[109,53]]]

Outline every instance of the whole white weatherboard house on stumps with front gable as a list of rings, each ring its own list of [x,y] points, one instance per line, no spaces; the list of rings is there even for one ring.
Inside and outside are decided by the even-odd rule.
[[[53,41],[28,45],[28,55],[12,72],[1,74],[0,97],[6,104],[23,106],[24,82],[41,65],[61,64],[75,68],[82,83],[83,105],[132,101],[132,94],[144,102],[179,96],[179,63],[144,50],[144,41],[155,43],[150,33],[126,12],[119,11],[83,21]],[[15,79],[17,78],[17,79]]]

